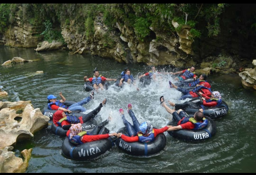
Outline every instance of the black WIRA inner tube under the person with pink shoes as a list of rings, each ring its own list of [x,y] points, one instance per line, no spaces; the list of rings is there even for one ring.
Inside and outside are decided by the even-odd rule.
[[[128,135],[126,127],[120,128],[117,133],[119,132]],[[126,142],[119,137],[116,140],[116,146],[127,154],[138,157],[148,157],[160,153],[165,148],[166,136],[163,133],[158,134],[155,140],[150,143]]]

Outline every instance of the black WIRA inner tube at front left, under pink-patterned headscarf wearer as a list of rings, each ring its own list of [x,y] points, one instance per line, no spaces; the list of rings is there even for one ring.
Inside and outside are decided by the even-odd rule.
[[[62,143],[62,154],[64,157],[72,160],[85,161],[102,155],[112,148],[112,146],[113,143],[110,137],[108,139],[86,142],[81,145],[74,145],[66,137]]]

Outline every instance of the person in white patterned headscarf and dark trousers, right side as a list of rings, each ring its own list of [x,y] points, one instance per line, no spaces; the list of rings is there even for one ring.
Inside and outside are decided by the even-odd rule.
[[[206,98],[207,98],[207,100],[206,100]],[[187,108],[187,107],[197,108],[198,106],[202,107],[202,109],[204,109],[204,107],[215,107],[215,106],[219,106],[222,103],[222,96],[220,95],[220,93],[218,91],[213,91],[212,97],[210,98],[207,96],[206,98],[201,97],[202,102],[199,101],[200,104],[189,102],[189,101],[186,101],[184,103],[174,103],[174,102],[168,101],[168,103],[170,106],[175,107],[175,110],[178,110],[178,109],[185,110],[185,108]],[[203,112],[203,111],[201,111],[201,112]]]

